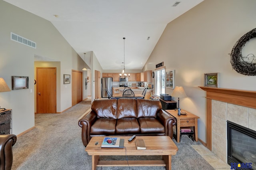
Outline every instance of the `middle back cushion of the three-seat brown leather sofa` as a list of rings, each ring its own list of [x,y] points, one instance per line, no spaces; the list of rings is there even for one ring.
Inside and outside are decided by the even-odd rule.
[[[137,118],[136,99],[118,99],[117,100],[117,119],[134,117]]]

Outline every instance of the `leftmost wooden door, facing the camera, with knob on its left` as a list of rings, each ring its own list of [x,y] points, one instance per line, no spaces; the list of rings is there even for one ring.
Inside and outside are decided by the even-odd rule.
[[[36,113],[56,113],[56,67],[36,68]]]

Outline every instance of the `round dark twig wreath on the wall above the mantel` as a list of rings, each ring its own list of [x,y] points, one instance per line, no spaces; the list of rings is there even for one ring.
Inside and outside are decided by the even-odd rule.
[[[242,55],[246,42],[256,37],[256,28],[244,34],[234,45],[230,53],[230,62],[236,72],[243,75],[256,75],[256,56],[252,53]]]

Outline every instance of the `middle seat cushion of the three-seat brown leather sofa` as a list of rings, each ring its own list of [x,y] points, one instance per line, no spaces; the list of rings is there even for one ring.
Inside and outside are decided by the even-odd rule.
[[[136,118],[117,119],[116,134],[138,134],[140,125]]]

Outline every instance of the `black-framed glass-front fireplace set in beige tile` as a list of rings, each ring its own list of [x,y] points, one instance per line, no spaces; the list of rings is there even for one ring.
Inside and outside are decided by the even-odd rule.
[[[256,170],[256,131],[227,121],[228,164],[231,169]]]

